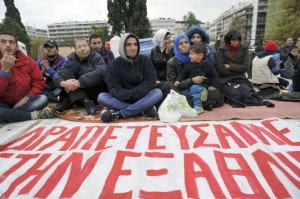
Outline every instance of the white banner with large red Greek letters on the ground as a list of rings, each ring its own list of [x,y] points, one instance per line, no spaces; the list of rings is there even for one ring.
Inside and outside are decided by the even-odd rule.
[[[0,145],[0,198],[299,198],[284,120],[37,125]]]

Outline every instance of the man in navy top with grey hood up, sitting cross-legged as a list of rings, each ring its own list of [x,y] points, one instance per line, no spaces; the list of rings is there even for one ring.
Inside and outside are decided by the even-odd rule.
[[[108,67],[106,83],[109,93],[100,93],[98,103],[108,107],[102,112],[103,122],[129,118],[144,113],[156,117],[155,104],[163,94],[155,88],[156,72],[149,57],[140,55],[138,38],[125,33],[119,45],[120,56]]]

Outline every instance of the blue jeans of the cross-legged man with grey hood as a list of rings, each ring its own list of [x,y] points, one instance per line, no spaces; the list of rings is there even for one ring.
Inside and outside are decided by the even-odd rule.
[[[162,97],[163,94],[161,90],[155,88],[151,90],[145,97],[132,104],[123,102],[113,97],[110,93],[100,93],[97,102],[100,105],[108,107],[109,109],[120,111],[123,118],[129,118],[138,115],[142,111],[149,110],[157,102],[159,102]]]

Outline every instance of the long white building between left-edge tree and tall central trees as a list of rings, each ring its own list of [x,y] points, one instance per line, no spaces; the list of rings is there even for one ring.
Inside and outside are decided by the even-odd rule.
[[[107,26],[107,21],[68,21],[48,24],[49,38],[55,41],[82,37],[88,39],[92,26]]]

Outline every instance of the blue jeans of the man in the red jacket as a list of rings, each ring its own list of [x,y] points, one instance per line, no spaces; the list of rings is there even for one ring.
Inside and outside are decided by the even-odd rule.
[[[20,122],[31,120],[31,112],[42,109],[48,105],[45,95],[31,96],[29,100],[17,108],[0,102],[0,121]]]

